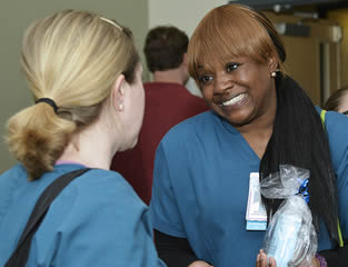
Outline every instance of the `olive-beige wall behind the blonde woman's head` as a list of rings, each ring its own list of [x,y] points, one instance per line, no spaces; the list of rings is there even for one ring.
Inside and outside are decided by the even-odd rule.
[[[21,38],[27,26],[36,18],[46,17],[62,9],[93,10],[115,18],[129,27],[136,37],[138,50],[142,49],[148,31],[147,0],[2,0],[0,4],[0,135],[4,135],[8,118],[20,109],[32,105],[29,90],[20,71],[19,56]],[[142,55],[141,55],[142,57]],[[147,78],[147,72],[145,72]],[[16,162],[0,141],[0,172]]]

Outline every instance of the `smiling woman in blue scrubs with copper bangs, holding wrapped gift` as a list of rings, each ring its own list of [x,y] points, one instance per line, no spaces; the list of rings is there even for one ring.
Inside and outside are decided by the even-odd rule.
[[[322,250],[348,237],[348,121],[327,112],[324,128],[321,110],[282,71],[285,60],[275,27],[249,7],[215,8],[196,28],[189,72],[211,111],[168,131],[153,170],[155,240],[168,266],[266,266],[265,230],[246,224],[249,178],[264,180],[280,165],[310,171],[319,239],[311,266],[339,266]],[[262,202],[269,220],[282,199]]]

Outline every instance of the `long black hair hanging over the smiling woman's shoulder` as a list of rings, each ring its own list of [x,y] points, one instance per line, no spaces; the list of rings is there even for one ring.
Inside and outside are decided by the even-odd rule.
[[[250,9],[251,12],[252,9]],[[260,13],[259,11],[256,11]],[[268,20],[266,16],[262,16]],[[268,20],[269,21],[269,20]],[[267,24],[260,21],[266,28]],[[285,48],[279,34],[266,28],[277,48],[279,58],[285,59]],[[276,42],[275,42],[276,41]],[[284,56],[281,55],[284,53]],[[260,162],[260,179],[279,171],[280,165],[292,165],[310,171],[308,191],[309,208],[314,225],[319,231],[320,219],[328,228],[331,240],[338,245],[338,195],[336,177],[330,159],[328,138],[320,116],[305,90],[291,78],[276,78],[277,113],[272,136]],[[326,196],[326,197],[322,197]],[[268,219],[277,211],[282,200],[262,197]]]

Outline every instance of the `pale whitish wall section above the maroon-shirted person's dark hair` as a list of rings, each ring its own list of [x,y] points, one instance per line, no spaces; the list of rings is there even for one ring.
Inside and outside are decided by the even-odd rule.
[[[149,28],[172,24],[190,37],[208,11],[227,2],[228,0],[149,0]],[[200,96],[192,79],[187,88],[193,95]]]

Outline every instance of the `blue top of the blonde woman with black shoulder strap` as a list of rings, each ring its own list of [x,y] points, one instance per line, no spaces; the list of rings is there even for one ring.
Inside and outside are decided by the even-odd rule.
[[[46,187],[79,168],[58,165],[39,180],[28,181],[17,165],[0,176],[0,266],[13,253]],[[147,206],[118,172],[92,169],[54,199],[33,236],[27,266],[165,265],[152,243]]]

